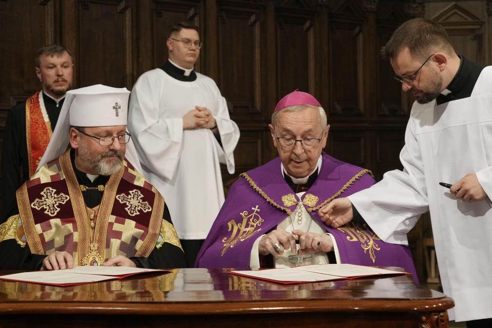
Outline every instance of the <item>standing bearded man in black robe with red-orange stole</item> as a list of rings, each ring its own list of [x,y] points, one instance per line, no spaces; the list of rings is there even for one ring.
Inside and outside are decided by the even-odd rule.
[[[72,86],[73,58],[64,46],[42,47],[34,61],[42,90],[14,106],[5,124],[0,223],[15,212],[15,191],[36,171]]]

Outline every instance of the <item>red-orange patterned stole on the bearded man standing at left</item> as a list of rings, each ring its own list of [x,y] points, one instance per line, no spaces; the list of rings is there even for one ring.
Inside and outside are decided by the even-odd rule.
[[[26,141],[29,176],[36,172],[53,133],[50,122],[45,122],[41,111],[40,93],[40,91],[36,92],[26,101]]]

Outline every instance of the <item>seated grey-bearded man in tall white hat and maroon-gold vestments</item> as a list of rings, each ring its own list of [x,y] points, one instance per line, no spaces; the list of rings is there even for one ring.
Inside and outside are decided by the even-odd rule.
[[[0,269],[186,266],[163,197],[136,170],[129,94],[67,93],[40,169],[17,190],[19,214],[0,225]]]

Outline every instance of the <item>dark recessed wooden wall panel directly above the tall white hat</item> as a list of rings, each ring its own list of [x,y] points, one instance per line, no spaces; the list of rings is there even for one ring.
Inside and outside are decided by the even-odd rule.
[[[82,4],[78,58],[80,87],[104,84],[127,87],[125,22],[114,2]]]

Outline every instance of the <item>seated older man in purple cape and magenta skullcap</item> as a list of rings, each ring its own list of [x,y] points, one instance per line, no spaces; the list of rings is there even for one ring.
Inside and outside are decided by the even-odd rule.
[[[407,246],[389,244],[361,219],[332,229],[318,210],[375,183],[369,170],[323,152],[330,126],[308,93],[282,98],[269,125],[279,157],[242,173],[195,262],[200,268],[285,268],[352,263],[415,274]]]

